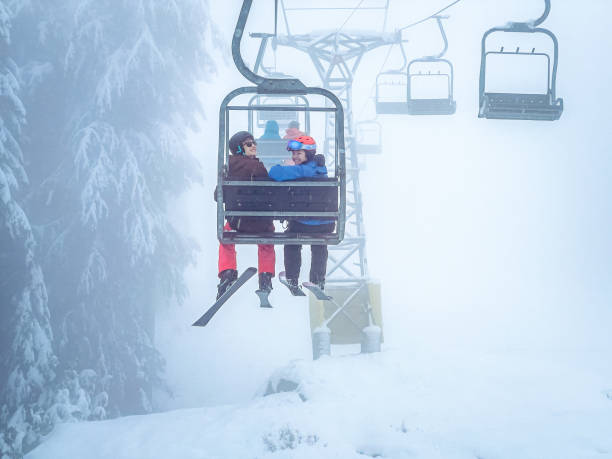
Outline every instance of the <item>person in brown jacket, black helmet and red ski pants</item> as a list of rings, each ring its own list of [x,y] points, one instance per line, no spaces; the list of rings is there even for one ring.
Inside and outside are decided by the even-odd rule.
[[[229,157],[229,178],[231,180],[253,180],[255,177],[268,178],[268,171],[257,159],[257,142],[247,131],[237,132],[229,140],[232,153]],[[230,217],[225,224],[226,231],[235,230],[245,233],[273,232],[274,223],[269,217]],[[274,265],[276,262],[274,245],[259,244],[259,290],[270,292]],[[234,244],[219,244],[219,285],[217,299],[236,281],[236,247]]]

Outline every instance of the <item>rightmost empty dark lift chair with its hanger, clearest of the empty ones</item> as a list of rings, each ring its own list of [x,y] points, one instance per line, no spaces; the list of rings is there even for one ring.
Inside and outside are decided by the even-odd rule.
[[[507,27],[494,27],[489,29],[482,38],[479,81],[479,118],[510,119],[510,120],[558,120],[563,112],[563,99],[556,97],[557,65],[559,58],[557,37],[547,29],[537,27],[550,12],[550,0],[545,0],[544,14],[535,22],[515,22]],[[516,48],[507,51],[502,46],[499,51],[487,51],[487,38],[494,32],[544,34],[553,44],[552,70],[551,56],[548,53],[536,52],[535,48],[521,51]],[[492,55],[503,57],[525,56],[526,58],[542,58],[547,62],[547,81],[545,93],[525,94],[513,92],[486,91],[487,58]]]

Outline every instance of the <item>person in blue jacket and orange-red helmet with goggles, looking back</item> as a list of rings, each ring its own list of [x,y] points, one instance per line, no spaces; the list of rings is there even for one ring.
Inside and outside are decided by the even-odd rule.
[[[287,150],[291,152],[291,160],[285,165],[273,166],[268,175],[271,179],[282,182],[296,180],[304,177],[327,177],[327,168],[322,155],[315,155],[317,144],[310,136],[299,136],[287,143]],[[331,233],[334,231],[334,220],[315,220],[297,218],[289,221],[287,232],[292,233]],[[310,282],[316,284],[321,290],[325,287],[325,273],[327,271],[327,245],[311,245]],[[291,293],[302,296],[298,279],[302,265],[302,246],[285,245],[285,274]]]

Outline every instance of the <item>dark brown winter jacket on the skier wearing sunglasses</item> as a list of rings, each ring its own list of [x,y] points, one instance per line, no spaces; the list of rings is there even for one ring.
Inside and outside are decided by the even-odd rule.
[[[269,177],[266,167],[259,159],[244,155],[230,155],[228,178],[230,180],[253,180]],[[274,231],[273,220],[269,217],[231,217],[228,221],[232,229],[244,233]]]

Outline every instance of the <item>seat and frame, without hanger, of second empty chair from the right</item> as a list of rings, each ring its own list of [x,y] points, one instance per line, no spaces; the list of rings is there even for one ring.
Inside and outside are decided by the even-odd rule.
[[[425,62],[427,64],[438,64],[442,63],[447,67],[446,72],[438,70],[436,73],[432,73],[431,70],[423,73],[422,71],[414,72],[412,70],[415,64]],[[414,97],[413,94],[413,81],[436,81],[444,79],[447,87],[448,97],[440,98],[418,98]],[[455,113],[456,102],[453,100],[453,64],[447,59],[439,59],[436,57],[424,57],[420,59],[414,59],[408,64],[408,101],[407,110],[410,115],[452,115]]]

